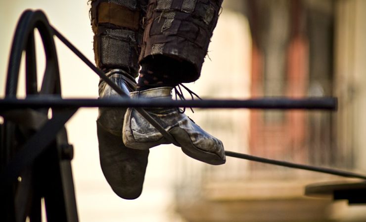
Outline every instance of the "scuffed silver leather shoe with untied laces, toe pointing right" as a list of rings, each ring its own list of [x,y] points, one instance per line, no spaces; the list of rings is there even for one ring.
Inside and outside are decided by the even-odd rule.
[[[131,98],[171,99],[171,91],[172,87],[153,88],[132,92]],[[186,155],[213,165],[225,163],[222,142],[201,129],[177,108],[149,108],[145,111],[174,137]],[[140,150],[170,144],[133,108],[128,108],[125,114],[122,138],[127,147]]]

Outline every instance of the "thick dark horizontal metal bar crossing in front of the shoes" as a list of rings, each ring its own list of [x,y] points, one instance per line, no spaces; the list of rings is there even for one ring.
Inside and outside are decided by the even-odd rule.
[[[336,98],[263,98],[248,100],[150,100],[130,98],[109,99],[60,99],[60,97],[42,96],[27,99],[4,98],[0,100],[0,111],[24,108],[65,108],[65,107],[192,107],[206,109],[305,109],[336,110]]]

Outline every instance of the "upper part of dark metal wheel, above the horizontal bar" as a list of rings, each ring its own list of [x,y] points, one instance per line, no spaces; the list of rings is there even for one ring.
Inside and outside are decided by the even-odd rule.
[[[42,83],[41,94],[61,94],[60,75],[53,30],[50,28],[46,15],[41,10],[26,10],[21,15],[16,27],[10,51],[5,96],[16,96],[19,69],[23,51],[26,51],[27,92],[37,93],[36,58],[34,30],[38,29],[46,54],[46,70]],[[37,82],[36,82],[37,84]]]

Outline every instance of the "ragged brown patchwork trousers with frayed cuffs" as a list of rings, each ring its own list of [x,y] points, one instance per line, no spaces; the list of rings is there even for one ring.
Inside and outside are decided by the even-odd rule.
[[[96,65],[137,77],[147,57],[186,61],[199,78],[223,0],[91,0]]]

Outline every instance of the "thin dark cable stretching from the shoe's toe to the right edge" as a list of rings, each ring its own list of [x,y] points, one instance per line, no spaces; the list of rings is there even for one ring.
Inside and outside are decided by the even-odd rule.
[[[309,166],[309,165],[297,164],[297,163],[290,163],[290,162],[279,161],[279,160],[274,160],[274,159],[267,159],[267,158],[263,158],[263,157],[257,157],[257,156],[252,156],[252,155],[232,152],[232,151],[225,151],[225,154],[227,156],[261,162],[261,163],[268,163],[268,164],[272,164],[272,165],[284,166],[284,167],[289,167],[289,168],[296,168],[296,169],[301,169],[301,170],[308,170],[308,171],[315,171],[315,172],[319,172],[319,173],[332,174],[332,175],[341,176],[341,177],[359,178],[359,179],[366,180],[366,175],[343,171],[343,170]]]

